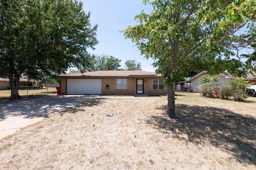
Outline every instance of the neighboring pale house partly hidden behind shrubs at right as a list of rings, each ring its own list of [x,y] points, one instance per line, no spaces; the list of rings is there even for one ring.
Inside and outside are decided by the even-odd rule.
[[[218,75],[212,75],[210,76],[207,74],[207,71],[202,71],[198,74],[196,74],[193,78],[187,80],[187,81],[181,81],[177,84],[177,90],[184,90],[184,88],[193,89],[193,91],[197,91],[198,86],[200,85],[200,79],[202,79],[205,76],[209,77],[219,77],[218,84],[225,84],[230,82],[230,80],[235,80],[238,78],[232,77],[229,74],[218,74]],[[256,76],[254,77],[251,74],[248,74],[245,80],[249,81],[250,83],[256,83]]]

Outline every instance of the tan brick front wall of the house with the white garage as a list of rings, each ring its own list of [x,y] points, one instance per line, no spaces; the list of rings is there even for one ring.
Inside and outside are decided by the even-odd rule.
[[[154,90],[153,78],[127,78],[128,88],[124,90],[116,89],[116,78],[102,78],[102,95],[136,95],[136,80],[143,79],[144,94],[146,95],[166,95],[167,89]],[[61,78],[61,95],[66,94],[66,78]],[[106,85],[109,85],[109,89]]]

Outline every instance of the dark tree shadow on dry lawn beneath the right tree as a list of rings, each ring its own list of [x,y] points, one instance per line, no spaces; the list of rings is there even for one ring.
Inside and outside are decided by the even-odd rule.
[[[150,116],[153,124],[163,133],[196,145],[211,145],[233,154],[239,162],[256,165],[256,120],[228,109],[203,106],[177,105],[177,120],[163,114]]]

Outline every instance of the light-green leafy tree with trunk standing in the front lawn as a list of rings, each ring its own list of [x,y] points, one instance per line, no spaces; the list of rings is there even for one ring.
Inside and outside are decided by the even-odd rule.
[[[139,22],[123,30],[147,58],[155,60],[156,73],[166,79],[168,93],[167,114],[175,118],[174,83],[186,75],[191,61],[203,58],[209,63],[210,74],[228,70],[244,76],[251,64],[241,62],[233,51],[234,44],[249,45],[250,41],[236,32],[255,24],[255,0],[143,0],[153,11],[135,16]],[[210,56],[196,54],[210,53]],[[251,56],[248,56],[250,60]],[[252,59],[253,60],[253,59]],[[195,62],[194,62],[195,63]]]

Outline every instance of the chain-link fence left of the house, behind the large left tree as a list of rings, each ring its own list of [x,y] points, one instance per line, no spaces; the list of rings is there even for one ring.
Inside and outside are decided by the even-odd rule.
[[[57,94],[56,87],[59,84],[46,84],[44,86],[19,86],[20,96],[30,95],[51,95]],[[9,87],[0,87],[0,97],[10,97],[11,90]]]

